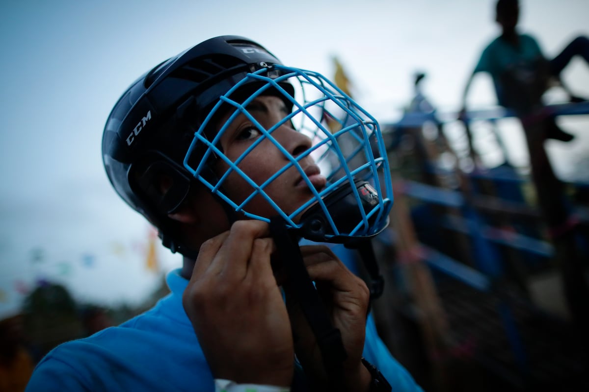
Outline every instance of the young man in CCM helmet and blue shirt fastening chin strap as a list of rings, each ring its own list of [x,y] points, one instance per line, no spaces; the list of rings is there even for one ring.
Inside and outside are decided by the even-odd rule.
[[[183,267],[153,309],[49,353],[28,390],[421,390],[367,322],[363,280],[297,246],[363,243],[388,222],[378,124],[332,83],[209,39],[131,85],[102,152]]]

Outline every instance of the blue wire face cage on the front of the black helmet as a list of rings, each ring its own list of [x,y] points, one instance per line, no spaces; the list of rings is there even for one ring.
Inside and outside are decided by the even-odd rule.
[[[285,84],[294,88],[294,95],[299,96],[299,100],[284,89]],[[251,89],[251,86],[255,86],[254,91],[244,99],[244,89]],[[285,102],[292,103],[292,111],[266,129],[246,108],[256,97],[267,95],[270,91],[273,95],[280,95]],[[219,118],[221,112],[226,113],[227,105],[234,108],[234,112],[211,138],[206,130],[212,128],[214,118]],[[240,114],[259,129],[261,136],[239,158],[231,161],[219,147],[220,139]],[[294,129],[312,140],[312,146],[296,157],[284,149],[272,135],[274,130],[285,123],[290,123]],[[238,165],[264,139],[271,140],[289,163],[277,167],[274,175],[263,183],[256,183]],[[201,158],[193,159],[197,154],[201,155],[203,150],[204,155]],[[301,159],[309,155],[320,167],[321,174],[327,178],[327,185],[320,191],[313,187],[299,164]],[[222,159],[229,170],[220,177],[211,179],[210,175],[205,175],[211,159]],[[247,209],[248,203],[261,195],[289,229],[302,231],[301,236],[310,240],[345,242],[350,238],[372,237],[388,225],[388,215],[393,203],[391,173],[378,122],[317,72],[262,64],[262,68],[248,73],[220,96],[194,133],[194,139],[184,158],[184,166],[237,213],[270,222],[270,216],[256,215]],[[312,196],[296,210],[284,211],[279,206],[280,203],[273,200],[265,189],[291,167],[296,167],[309,186]],[[223,188],[232,172],[239,174],[253,190],[239,204]]]

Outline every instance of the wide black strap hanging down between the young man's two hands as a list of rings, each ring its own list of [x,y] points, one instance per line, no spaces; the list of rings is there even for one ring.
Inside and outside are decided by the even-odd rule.
[[[343,361],[348,354],[343,347],[339,329],[333,327],[327,315],[325,304],[303,263],[296,237],[286,227],[282,217],[270,218],[270,233],[276,243],[277,253],[282,260],[289,280],[289,295],[300,304],[323,358],[323,366],[333,385],[342,380]]]

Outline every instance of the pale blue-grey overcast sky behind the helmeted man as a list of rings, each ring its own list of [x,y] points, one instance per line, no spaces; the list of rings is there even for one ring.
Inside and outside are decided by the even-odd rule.
[[[329,77],[337,55],[357,100],[387,122],[411,99],[416,70],[428,74],[424,91],[439,110],[458,109],[466,76],[498,33],[492,9],[479,0],[2,2],[0,316],[40,278],[108,303],[136,302],[157,283],[144,268],[150,228],[110,188],[100,155],[112,106],[157,63],[227,34]],[[528,0],[520,25],[551,57],[589,35],[588,15],[586,0]],[[564,79],[589,96],[589,67],[574,61]],[[475,79],[470,102],[494,104],[487,78]],[[566,171],[589,149],[588,122],[562,121],[577,142],[549,148]],[[164,270],[179,262],[160,254]]]

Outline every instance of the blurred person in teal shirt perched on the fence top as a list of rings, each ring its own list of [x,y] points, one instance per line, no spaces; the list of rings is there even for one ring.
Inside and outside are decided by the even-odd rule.
[[[573,135],[558,128],[554,115],[542,112],[542,95],[552,82],[557,82],[568,94],[570,102],[585,100],[570,91],[562,82],[560,74],[576,55],[589,64],[589,39],[578,36],[558,56],[548,59],[532,35],[518,31],[518,0],[498,0],[495,11],[501,35],[485,48],[469,76],[462,96],[460,116],[465,116],[466,96],[474,75],[488,72],[493,79],[499,105],[514,110],[524,126],[537,121],[539,117],[544,121],[547,138],[563,142],[573,140]]]

